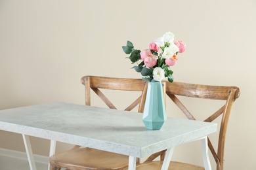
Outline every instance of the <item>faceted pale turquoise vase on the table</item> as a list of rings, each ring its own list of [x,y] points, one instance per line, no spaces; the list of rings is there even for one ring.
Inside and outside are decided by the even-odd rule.
[[[146,129],[160,130],[166,120],[163,85],[161,82],[148,82],[142,121]]]

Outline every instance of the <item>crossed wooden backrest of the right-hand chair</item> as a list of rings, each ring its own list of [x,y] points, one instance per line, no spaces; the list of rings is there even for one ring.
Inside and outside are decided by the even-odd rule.
[[[224,143],[226,139],[226,129],[228,126],[228,118],[230,110],[234,101],[240,96],[240,90],[234,86],[207,86],[200,84],[188,84],[182,82],[166,82],[165,85],[166,95],[182,110],[186,117],[190,120],[196,120],[194,115],[184,107],[181,100],[177,96],[196,97],[201,99],[215,99],[223,100],[224,105],[221,106],[216,112],[213,112],[207,117],[205,122],[212,122],[217,117],[222,115],[221,124],[219,124],[219,140],[217,145],[217,152],[213,144],[208,138],[208,146],[213,154],[213,158],[217,163],[217,170],[223,170],[224,161]],[[179,97],[181,98],[181,97]],[[201,106],[202,108],[202,106]]]

